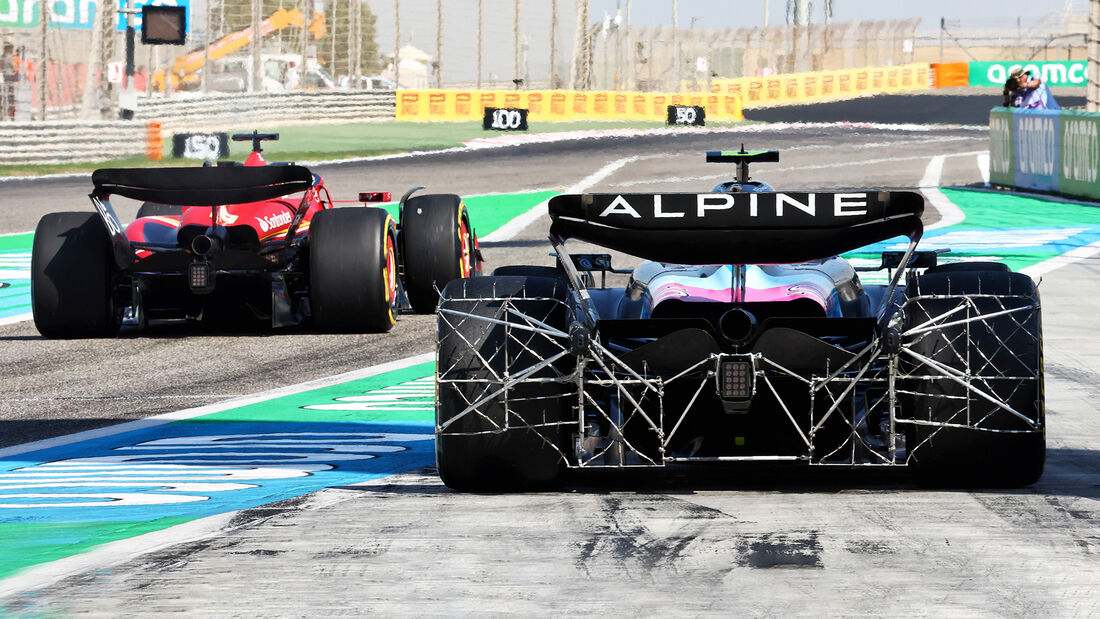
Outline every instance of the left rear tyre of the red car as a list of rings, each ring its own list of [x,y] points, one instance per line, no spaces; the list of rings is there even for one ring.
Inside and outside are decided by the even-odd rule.
[[[50,213],[31,251],[31,308],[46,338],[111,338],[122,324],[107,226],[96,213]]]

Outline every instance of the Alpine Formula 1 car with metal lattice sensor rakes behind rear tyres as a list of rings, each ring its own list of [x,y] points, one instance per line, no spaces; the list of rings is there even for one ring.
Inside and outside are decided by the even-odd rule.
[[[1027,275],[917,251],[919,194],[777,192],[748,178],[776,151],[707,161],[737,164],[737,179],[703,194],[557,196],[556,267],[447,286],[444,484],[744,461],[908,466],[930,485],[1042,475],[1041,310]],[[905,248],[880,248],[877,266],[838,257],[895,236]],[[570,254],[566,241],[644,262],[615,269],[610,254]],[[629,279],[606,286],[614,274]]]

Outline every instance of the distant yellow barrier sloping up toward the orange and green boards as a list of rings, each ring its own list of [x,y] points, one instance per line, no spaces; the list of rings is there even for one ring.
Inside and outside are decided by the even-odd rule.
[[[745,107],[751,108],[925,90],[930,87],[928,76],[930,65],[915,63],[897,67],[715,79],[711,81],[711,91],[741,97]]]

